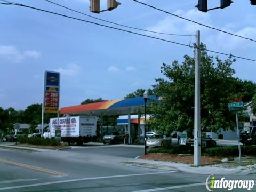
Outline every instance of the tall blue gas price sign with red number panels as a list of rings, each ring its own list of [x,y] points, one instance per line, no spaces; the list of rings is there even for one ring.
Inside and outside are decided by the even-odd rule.
[[[60,73],[44,73],[44,113],[58,113],[60,102]]]

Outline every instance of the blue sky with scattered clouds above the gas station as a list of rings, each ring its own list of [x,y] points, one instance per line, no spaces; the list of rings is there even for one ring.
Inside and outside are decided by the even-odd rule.
[[[89,0],[52,0],[85,14],[122,25],[170,34],[192,35],[201,31],[207,49],[256,59],[256,42],[231,36],[195,23],[173,17],[133,0],[119,0],[121,5],[100,14],[89,11]],[[1,1],[0,1],[1,2]],[[112,27],[183,44],[190,36],[153,34],[123,28],[56,6],[45,0],[12,2],[57,12]],[[249,0],[234,0],[226,9],[207,13],[195,8],[197,0],[141,0],[159,9],[195,20],[230,33],[256,39],[256,6]],[[208,7],[220,1],[209,0]],[[101,0],[105,10],[107,0]],[[42,103],[44,71],[58,71],[60,107],[79,105],[85,99],[121,99],[139,88],[148,89],[163,77],[162,63],[183,61],[193,49],[157,39],[60,17],[26,7],[0,4],[0,107],[24,110]],[[224,60],[227,56],[215,53]],[[231,66],[235,77],[256,82],[256,62],[237,59]]]

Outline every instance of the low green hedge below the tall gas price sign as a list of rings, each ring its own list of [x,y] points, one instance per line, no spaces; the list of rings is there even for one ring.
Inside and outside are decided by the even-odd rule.
[[[22,143],[27,143],[31,145],[42,145],[42,146],[60,146],[60,141],[50,138],[36,138],[36,137],[20,137],[18,138],[18,141]]]

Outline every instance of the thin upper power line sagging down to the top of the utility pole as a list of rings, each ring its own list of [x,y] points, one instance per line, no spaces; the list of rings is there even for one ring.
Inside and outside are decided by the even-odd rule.
[[[116,22],[112,22],[112,21],[108,21],[108,20],[105,20],[105,19],[100,19],[100,18],[97,18],[97,17],[93,17],[92,15],[89,15],[89,14],[85,14],[83,12],[80,12],[80,11],[77,11],[77,10],[74,10],[74,9],[71,9],[67,6],[63,6],[61,4],[58,4],[58,3],[55,3],[55,2],[52,2],[50,0],[45,0],[49,3],[52,3],[52,4],[55,4],[55,5],[58,5],[58,6],[61,6],[65,9],[68,9],[70,11],[74,11],[76,13],[80,13],[80,14],[83,14],[83,15],[86,15],[87,17],[90,17],[90,18],[93,18],[93,19],[98,19],[100,21],[104,21],[104,22],[108,22],[108,23],[111,23],[111,24],[114,24],[114,25],[118,25],[118,26],[122,26],[122,27],[127,27],[127,28],[130,28],[130,29],[136,29],[136,30],[141,30],[141,31],[146,31],[146,32],[149,32],[149,33],[156,33],[156,34],[162,34],[162,35],[175,35],[175,36],[193,36],[193,35],[183,35],[183,34],[170,34],[170,33],[161,33],[161,32],[157,32],[157,31],[151,31],[151,30],[145,30],[145,29],[140,29],[140,28],[137,28],[137,27],[130,27],[130,26],[126,26],[126,25],[122,25],[122,24],[119,24],[119,23],[116,23]]]

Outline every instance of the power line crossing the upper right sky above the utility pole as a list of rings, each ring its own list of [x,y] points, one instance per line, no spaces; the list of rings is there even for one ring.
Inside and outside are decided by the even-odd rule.
[[[236,36],[236,37],[240,37],[240,38],[243,38],[243,39],[247,39],[247,40],[250,40],[250,41],[256,42],[256,40],[254,40],[254,39],[247,38],[247,37],[243,37],[243,36],[240,36],[240,35],[236,35],[236,34],[233,34],[233,33],[228,32],[228,31],[224,31],[224,30],[221,30],[221,29],[218,29],[218,28],[210,27],[210,26],[204,25],[204,24],[202,24],[202,23],[199,23],[199,22],[196,22],[196,21],[193,21],[193,20],[187,19],[187,18],[183,18],[183,17],[181,17],[181,16],[179,16],[179,15],[177,15],[177,14],[173,14],[173,13],[170,13],[170,12],[168,12],[168,11],[164,11],[164,10],[162,10],[162,9],[159,9],[159,8],[154,7],[154,6],[152,6],[152,5],[149,5],[149,4],[146,4],[146,3],[140,2],[140,1],[138,1],[138,0],[133,0],[133,1],[135,1],[135,2],[137,2],[137,3],[140,3],[140,4],[142,4],[142,5],[149,6],[149,7],[153,8],[153,9],[158,10],[158,11],[162,11],[162,12],[164,12],[164,13],[167,13],[167,14],[173,15],[174,17],[178,17],[178,18],[180,18],[180,19],[183,19],[183,20],[187,20],[187,21],[190,21],[190,22],[196,23],[197,25],[201,25],[201,26],[204,26],[204,27],[207,27],[207,28],[210,28],[210,29],[218,30],[218,31],[220,31],[220,32],[222,32],[222,33],[226,33],[226,34],[229,34],[229,35],[233,35],[233,36]]]

